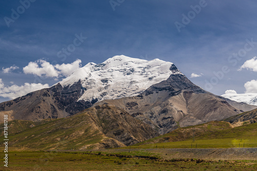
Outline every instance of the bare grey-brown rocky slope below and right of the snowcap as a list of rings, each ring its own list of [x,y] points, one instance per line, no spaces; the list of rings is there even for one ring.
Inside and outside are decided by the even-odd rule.
[[[173,70],[178,69],[173,66]],[[173,74],[136,97],[99,102],[104,103],[116,105],[152,127],[158,127],[160,134],[242,113],[226,100],[196,86],[183,74]]]

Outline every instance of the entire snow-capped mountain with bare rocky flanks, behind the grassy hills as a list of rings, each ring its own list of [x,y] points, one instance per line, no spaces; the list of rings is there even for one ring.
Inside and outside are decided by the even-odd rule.
[[[0,121],[4,114],[10,120],[64,118],[103,104],[125,110],[159,134],[256,108],[201,89],[171,62],[121,55],[88,63],[51,88],[0,103]]]

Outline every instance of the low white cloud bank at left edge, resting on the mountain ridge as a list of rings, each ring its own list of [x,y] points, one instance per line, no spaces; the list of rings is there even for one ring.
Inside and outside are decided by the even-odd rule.
[[[24,83],[23,86],[17,86],[16,84],[12,86],[5,86],[3,80],[0,78],[0,96],[7,97],[9,99],[15,99],[20,96],[24,96],[30,92],[36,90],[41,90],[49,88],[48,84],[41,83]]]

